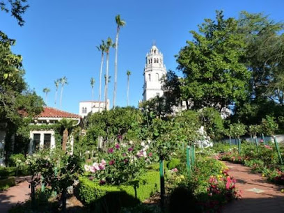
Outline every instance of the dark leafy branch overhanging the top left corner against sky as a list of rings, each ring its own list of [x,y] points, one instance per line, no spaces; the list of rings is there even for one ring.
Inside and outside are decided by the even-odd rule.
[[[24,25],[22,15],[26,12],[26,9],[29,8],[29,5],[26,4],[26,0],[9,0],[8,2],[1,0],[0,8],[6,13],[11,13],[11,15],[17,19],[19,26]]]

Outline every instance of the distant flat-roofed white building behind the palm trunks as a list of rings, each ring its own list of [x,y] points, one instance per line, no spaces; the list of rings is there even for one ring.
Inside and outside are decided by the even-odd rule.
[[[101,102],[100,111],[104,111],[105,102]],[[109,110],[109,99],[107,100],[107,110]],[[79,102],[79,115],[84,118],[88,113],[96,113],[99,111],[99,102],[97,101],[86,101]]]

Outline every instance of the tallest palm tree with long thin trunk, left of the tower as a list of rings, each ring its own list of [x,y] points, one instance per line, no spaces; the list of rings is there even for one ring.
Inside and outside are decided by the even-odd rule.
[[[120,19],[120,15],[116,15],[116,59],[114,61],[114,89],[113,89],[113,108],[116,107],[116,86],[118,78],[118,34],[121,26],[125,26],[125,21]]]

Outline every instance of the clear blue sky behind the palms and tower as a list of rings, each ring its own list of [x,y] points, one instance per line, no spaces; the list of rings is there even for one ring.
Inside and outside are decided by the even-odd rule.
[[[117,104],[126,105],[126,71],[131,70],[129,102],[135,107],[142,99],[145,54],[153,40],[164,54],[166,68],[175,70],[174,55],[186,40],[191,40],[189,31],[196,30],[203,19],[214,18],[215,10],[223,10],[226,17],[237,17],[239,11],[246,10],[263,12],[277,22],[284,20],[283,0],[30,0],[29,4],[23,27],[10,15],[0,12],[1,30],[17,40],[13,52],[24,58],[25,78],[30,88],[42,97],[42,88],[52,90],[47,102],[50,107],[54,107],[54,80],[68,78],[62,109],[72,113],[79,113],[79,101],[91,99],[90,77],[95,77],[95,100],[98,99],[100,53],[96,46],[108,36],[115,39],[118,14],[127,24],[119,38]],[[114,51],[109,65],[112,100]]]

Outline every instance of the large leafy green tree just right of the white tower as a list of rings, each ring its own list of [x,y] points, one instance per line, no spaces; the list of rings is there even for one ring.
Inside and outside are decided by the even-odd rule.
[[[237,24],[217,11],[216,21],[205,19],[199,33],[191,31],[194,41],[187,41],[177,56],[178,70],[185,76],[182,99],[193,102],[196,109],[221,111],[246,98],[250,72],[242,63],[246,43]]]

